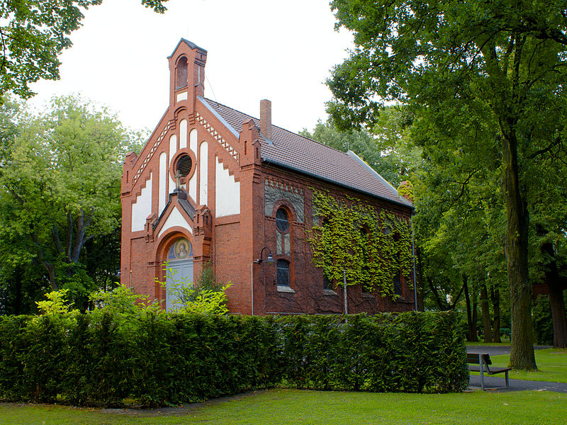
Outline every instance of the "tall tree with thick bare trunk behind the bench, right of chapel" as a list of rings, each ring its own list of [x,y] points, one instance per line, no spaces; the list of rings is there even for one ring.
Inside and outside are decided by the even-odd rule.
[[[498,125],[510,365],[537,368],[523,173],[524,162],[563,140],[567,2],[335,0],[331,6],[337,26],[352,30],[357,46],[328,81],[335,122],[371,126],[383,101],[398,100],[424,108],[436,125],[479,113]]]

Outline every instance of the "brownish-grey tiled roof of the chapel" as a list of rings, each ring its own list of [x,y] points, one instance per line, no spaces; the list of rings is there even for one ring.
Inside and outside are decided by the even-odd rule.
[[[215,115],[220,116],[221,122],[232,127],[229,130],[235,134],[238,134],[242,124],[250,119],[259,127],[257,118],[201,96],[198,96],[198,100]],[[413,208],[412,203],[399,196],[390,183],[354,152],[340,152],[276,125],[271,126],[271,136],[271,140],[261,140],[262,161]]]

